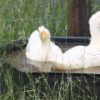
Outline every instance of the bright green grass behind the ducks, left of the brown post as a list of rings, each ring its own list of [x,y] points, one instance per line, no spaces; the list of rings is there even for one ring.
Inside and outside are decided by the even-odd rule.
[[[64,35],[66,12],[66,0],[1,0],[0,40],[25,38],[41,25],[53,35]]]

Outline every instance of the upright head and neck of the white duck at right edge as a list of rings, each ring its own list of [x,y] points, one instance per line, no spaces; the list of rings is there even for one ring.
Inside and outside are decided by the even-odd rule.
[[[100,49],[100,11],[90,17],[89,26],[91,34],[90,44]]]

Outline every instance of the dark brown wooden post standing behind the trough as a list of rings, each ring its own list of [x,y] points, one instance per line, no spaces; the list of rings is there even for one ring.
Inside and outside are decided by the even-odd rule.
[[[91,0],[68,0],[68,36],[90,36]]]

